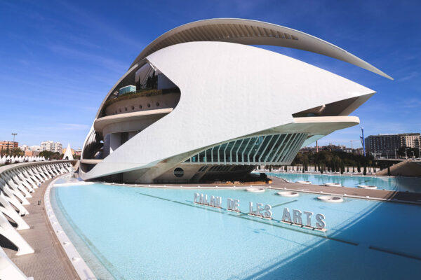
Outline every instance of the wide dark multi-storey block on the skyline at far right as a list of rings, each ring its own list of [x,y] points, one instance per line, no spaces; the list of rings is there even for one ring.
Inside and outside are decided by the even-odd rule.
[[[394,158],[399,148],[420,148],[420,133],[370,135],[365,141],[367,153],[375,157]]]

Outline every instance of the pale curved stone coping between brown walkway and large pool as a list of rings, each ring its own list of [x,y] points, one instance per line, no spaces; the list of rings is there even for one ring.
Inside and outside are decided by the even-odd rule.
[[[51,206],[50,202],[50,190],[54,187],[55,181],[60,179],[62,176],[68,174],[63,174],[61,176],[56,177],[53,181],[51,181],[44,193],[44,204],[45,204],[45,212],[46,216],[48,217],[48,221],[50,222],[51,228],[53,228],[55,236],[57,237],[58,241],[60,241],[60,245],[62,249],[65,251],[67,258],[69,258],[70,263],[76,270],[80,279],[83,280],[94,280],[97,279],[95,274],[93,274],[91,268],[86,265],[85,260],[81,257],[79,252],[74,247],[72,241],[70,241],[69,237],[67,237],[65,231],[62,229],[58,218],[55,216],[53,207]]]

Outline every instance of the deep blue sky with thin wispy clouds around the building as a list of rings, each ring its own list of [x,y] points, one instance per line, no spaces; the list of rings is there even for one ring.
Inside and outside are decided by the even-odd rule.
[[[133,59],[195,20],[248,18],[304,31],[392,76],[312,52],[265,47],[377,92],[352,113],[366,135],[421,132],[420,1],[19,1],[0,3],[0,140],[79,148],[98,106]],[[319,144],[358,140],[359,127]],[[354,142],[355,146],[361,146]]]

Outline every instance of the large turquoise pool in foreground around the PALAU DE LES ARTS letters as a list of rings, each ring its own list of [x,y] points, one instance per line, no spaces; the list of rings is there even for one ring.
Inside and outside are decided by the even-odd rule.
[[[194,193],[271,204],[273,220],[193,204]],[[275,190],[186,190],[94,184],[53,188],[83,258],[102,279],[416,279],[421,274],[421,207]],[[54,202],[55,201],[55,202]],[[327,232],[279,222],[283,208],[326,216]],[[56,208],[55,211],[58,211]],[[64,221],[60,221],[62,223]],[[314,223],[314,221],[312,221]],[[79,245],[78,245],[79,242]],[[387,253],[385,253],[387,252]],[[95,260],[97,261],[97,260]],[[95,262],[93,261],[93,262]],[[91,263],[91,262],[88,262]]]

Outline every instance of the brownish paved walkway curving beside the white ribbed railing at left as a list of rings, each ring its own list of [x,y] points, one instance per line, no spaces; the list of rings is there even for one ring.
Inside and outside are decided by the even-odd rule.
[[[51,180],[42,183],[41,188],[32,193],[33,197],[29,198],[31,204],[25,205],[29,215],[24,217],[25,222],[31,228],[19,231],[20,235],[34,248],[35,253],[16,256],[16,249],[13,248],[13,244],[7,244],[4,238],[0,240],[0,245],[8,247],[4,248],[8,257],[28,277],[34,277],[35,280],[79,279],[57,237],[55,237],[44,211],[44,192],[50,182]],[[38,205],[39,201],[41,202],[40,205]]]

